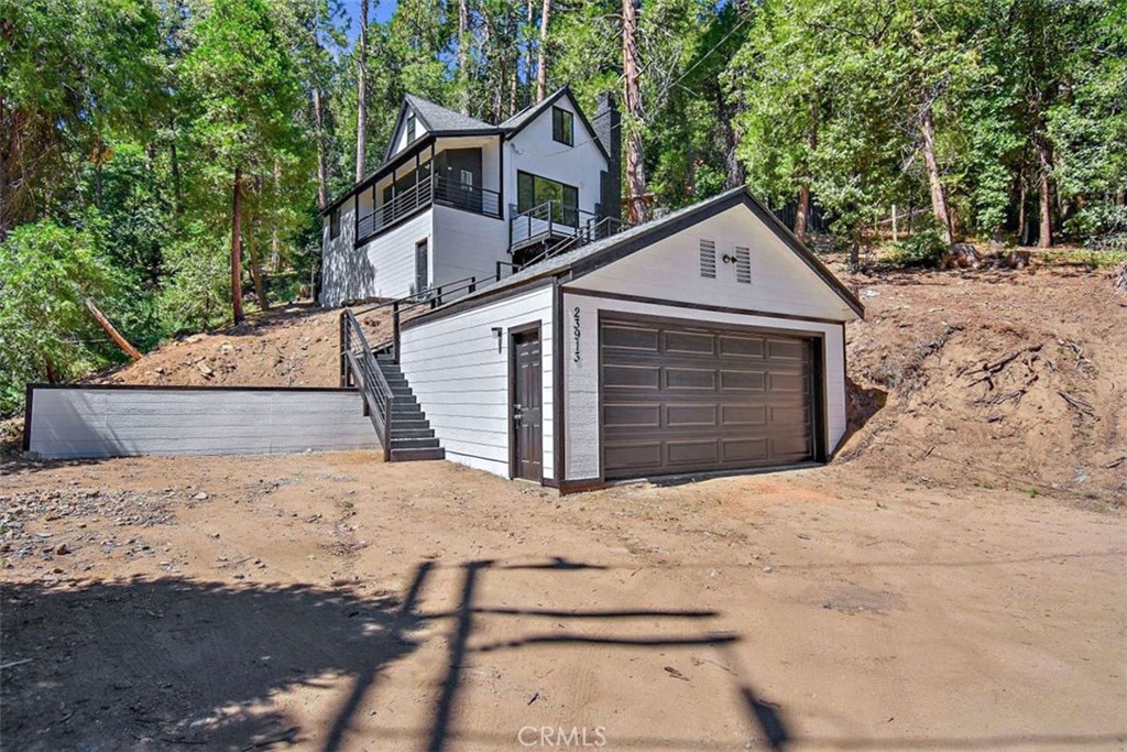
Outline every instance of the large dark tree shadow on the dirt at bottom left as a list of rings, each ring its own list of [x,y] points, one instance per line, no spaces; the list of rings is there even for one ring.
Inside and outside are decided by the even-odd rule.
[[[274,696],[352,679],[328,729],[335,749],[379,673],[416,648],[425,576],[402,599],[175,577],[6,585],[5,747],[296,743],[309,729],[272,708]]]

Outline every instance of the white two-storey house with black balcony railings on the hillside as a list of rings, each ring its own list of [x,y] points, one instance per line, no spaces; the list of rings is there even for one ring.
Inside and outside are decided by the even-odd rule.
[[[494,277],[498,262],[605,232],[620,214],[618,117],[604,96],[589,122],[567,88],[498,125],[406,97],[383,163],[323,212],[320,302]]]

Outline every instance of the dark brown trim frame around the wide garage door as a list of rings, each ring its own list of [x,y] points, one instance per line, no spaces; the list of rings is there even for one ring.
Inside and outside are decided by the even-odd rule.
[[[784,336],[788,338],[800,338],[810,340],[810,399],[811,405],[811,440],[814,442],[813,461],[825,462],[827,458],[826,451],[826,399],[825,399],[825,383],[826,383],[826,343],[825,333],[816,331],[809,329],[795,329],[787,327],[765,327],[765,326],[754,326],[754,325],[742,325],[731,324],[727,321],[698,321],[693,319],[685,319],[671,316],[653,316],[645,313],[631,313],[627,311],[616,311],[612,309],[598,309],[596,331],[598,333],[597,342],[597,372],[598,372],[598,388],[597,388],[597,410],[598,410],[598,459],[600,459],[600,483],[615,483],[620,479],[615,478],[611,481],[606,479],[606,462],[605,462],[605,436],[604,436],[604,419],[603,419],[603,342],[602,331],[604,322],[610,319],[612,321],[624,321],[624,322],[638,322],[642,325],[656,325],[656,326],[674,326],[687,329],[704,329],[704,330],[733,330],[745,334],[760,334],[760,335],[777,335]],[[779,466],[779,467],[790,467],[790,466]],[[696,470],[686,472],[656,472],[653,477],[667,477],[673,475],[687,475],[687,476],[706,476],[706,475],[733,475],[742,471],[756,471],[762,472],[764,470],[772,469],[770,466],[751,466],[747,468],[724,468],[716,470]],[[645,478],[645,475],[639,476]]]

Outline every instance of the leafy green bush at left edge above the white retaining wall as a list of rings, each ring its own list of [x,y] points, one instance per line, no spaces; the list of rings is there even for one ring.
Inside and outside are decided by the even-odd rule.
[[[113,293],[115,277],[87,230],[45,220],[0,244],[0,416],[19,407],[28,381],[73,379],[110,362],[85,301]]]

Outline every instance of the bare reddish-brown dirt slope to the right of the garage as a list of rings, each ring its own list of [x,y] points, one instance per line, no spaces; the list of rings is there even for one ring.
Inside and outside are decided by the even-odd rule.
[[[848,329],[855,434],[838,461],[1127,501],[1127,297],[1104,273],[846,278],[867,320]]]

